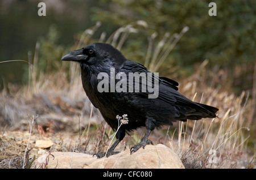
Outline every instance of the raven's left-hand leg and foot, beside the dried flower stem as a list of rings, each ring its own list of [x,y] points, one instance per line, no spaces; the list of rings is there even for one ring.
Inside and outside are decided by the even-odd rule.
[[[121,140],[125,137],[125,131],[122,131],[121,129],[119,129],[115,136],[116,136],[117,140],[115,140],[115,142],[112,144],[112,146],[108,149],[107,152],[95,153],[93,156],[97,156],[97,158],[101,158],[104,156],[109,157],[111,155],[115,155],[115,154],[119,153],[119,151],[114,151],[114,149],[115,149],[115,147],[117,147],[117,144],[119,142],[121,142]]]

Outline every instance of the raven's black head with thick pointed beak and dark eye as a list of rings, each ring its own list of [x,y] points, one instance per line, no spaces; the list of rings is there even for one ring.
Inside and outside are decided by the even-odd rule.
[[[65,54],[62,61],[76,61],[87,66],[115,66],[125,61],[122,53],[112,45],[106,43],[94,43],[82,49]]]

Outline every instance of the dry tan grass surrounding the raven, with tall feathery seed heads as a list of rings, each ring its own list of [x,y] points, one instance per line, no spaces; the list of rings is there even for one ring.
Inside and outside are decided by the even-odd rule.
[[[99,25],[77,36],[74,49],[88,44]],[[142,25],[142,22],[119,28],[106,41],[121,49],[128,35],[138,31],[135,25]],[[175,40],[179,40],[184,32],[171,38],[165,35],[155,48],[155,35],[152,35],[145,64],[158,69],[177,43]],[[104,33],[99,41],[105,41]],[[254,109],[251,108],[255,106],[255,98],[249,91],[237,96],[230,91],[230,85],[218,85],[220,80],[227,80],[225,71],[209,72],[205,68],[207,63],[205,60],[189,78],[178,80],[179,91],[197,102],[216,106],[220,109],[218,118],[177,122],[174,127],[155,130],[150,139],[154,144],[163,143],[178,153],[186,168],[254,168],[255,142],[250,135],[255,137],[255,125],[252,125]],[[86,97],[77,63],[70,64],[69,79],[63,70],[36,76],[36,68],[36,63],[30,65],[27,86],[19,91],[7,93],[4,90],[0,93],[0,160],[26,155],[27,145],[32,149],[31,156],[39,156],[40,151],[46,150],[35,149],[34,142],[42,138],[55,143],[54,147],[47,149],[51,152],[93,154],[106,151],[114,132]],[[9,89],[14,88],[10,85]],[[38,115],[33,127],[29,126],[28,115]],[[29,134],[30,130],[32,133]],[[143,128],[131,132],[117,149],[122,151],[124,147],[138,143],[142,131]],[[247,145],[248,142],[252,143]]]

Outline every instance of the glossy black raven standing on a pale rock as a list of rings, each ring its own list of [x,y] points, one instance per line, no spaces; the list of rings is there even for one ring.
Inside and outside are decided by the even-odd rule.
[[[187,121],[187,119],[198,120],[216,117],[217,108],[189,100],[177,92],[177,85],[179,85],[177,82],[164,77],[158,78],[155,75],[152,76],[152,82],[158,83],[159,94],[157,98],[148,98],[148,95],[152,93],[142,92],[141,87],[139,92],[117,92],[117,90],[99,92],[98,83],[102,81],[102,76],[98,78],[98,75],[104,72],[111,76],[110,68],[112,71],[114,70],[114,75],[121,72],[121,75],[125,74],[127,79],[129,72],[138,72],[139,74],[150,72],[143,65],[126,59],[119,50],[110,44],[90,44],[82,49],[69,52],[61,60],[80,63],[82,86],[86,95],[92,104],[100,110],[105,121],[113,130],[116,131],[118,128],[117,115],[127,114],[129,119],[129,123],[123,124],[118,129],[117,140],[112,147],[105,153],[94,154],[97,158],[119,153],[114,152],[114,148],[125,137],[126,132],[138,127],[146,126],[147,132],[140,143],[131,147],[130,153],[136,152],[141,147],[144,148],[146,144],[152,144],[151,140],[147,138],[155,127],[172,125],[172,122],[176,120]],[[108,79],[106,83],[110,85],[110,81]],[[129,80],[127,81],[129,82]],[[117,82],[118,80],[115,80],[115,83]],[[129,83],[127,83],[127,87]],[[139,81],[139,84],[143,85],[142,80]]]

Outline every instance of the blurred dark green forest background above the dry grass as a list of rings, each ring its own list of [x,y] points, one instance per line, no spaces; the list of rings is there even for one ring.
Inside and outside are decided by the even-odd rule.
[[[213,71],[221,68],[227,73],[226,81],[222,82],[225,84],[220,85],[231,85],[237,94],[253,88],[255,1],[213,1],[217,4],[217,16],[208,15],[212,1],[0,2],[1,61],[31,61],[39,42],[40,71],[54,72],[61,66],[61,56],[76,48],[72,45],[78,35],[101,22],[90,42],[98,41],[102,32],[109,37],[116,29],[133,24],[138,32],[129,35],[122,52],[144,64],[148,39],[153,34],[157,42],[189,27],[160,67],[163,76],[186,77],[208,59],[207,68]],[[46,3],[46,16],[38,16],[39,2]],[[138,21],[144,24],[136,24]],[[7,83],[26,84],[27,67],[23,62],[1,63],[0,88],[7,87]]]

